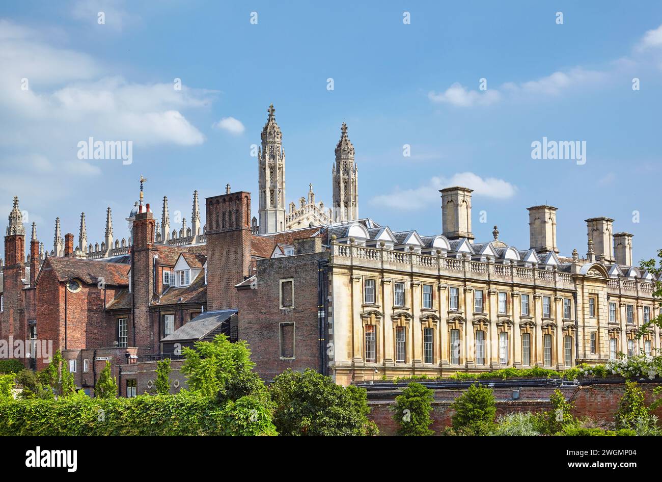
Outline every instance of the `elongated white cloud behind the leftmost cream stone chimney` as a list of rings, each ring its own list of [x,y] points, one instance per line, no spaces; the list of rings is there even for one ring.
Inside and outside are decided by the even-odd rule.
[[[491,199],[508,199],[517,188],[503,179],[480,177],[473,172],[460,172],[453,176],[432,177],[428,183],[411,189],[396,188],[392,193],[375,196],[370,200],[374,206],[384,206],[398,211],[415,211],[440,202],[440,189],[463,186],[473,189],[473,195]]]

